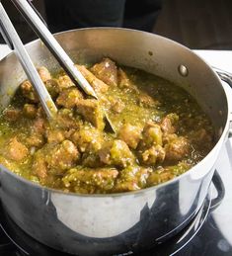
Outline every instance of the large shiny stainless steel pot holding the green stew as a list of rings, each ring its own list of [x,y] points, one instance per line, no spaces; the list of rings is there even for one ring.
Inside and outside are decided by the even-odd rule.
[[[205,199],[231,120],[221,81],[192,50],[153,34],[96,28],[61,33],[56,38],[75,61],[95,62],[109,56],[184,87],[210,117],[216,145],[201,162],[172,181],[114,195],[66,194],[1,167],[2,204],[27,233],[61,251],[110,255],[149,248],[187,225]],[[39,41],[27,44],[27,49],[37,66],[59,68]],[[1,109],[25,78],[14,53],[0,61]]]

